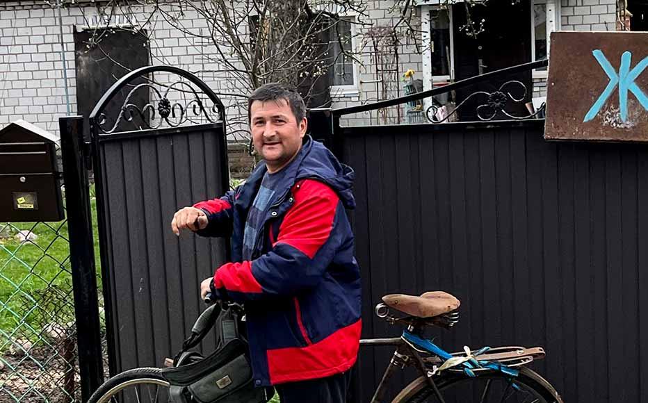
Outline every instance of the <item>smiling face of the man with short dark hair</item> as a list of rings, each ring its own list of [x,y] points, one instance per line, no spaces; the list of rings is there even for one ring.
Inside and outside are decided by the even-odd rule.
[[[307,122],[297,122],[286,99],[254,101],[250,106],[250,129],[254,148],[276,172],[289,163],[302,147]]]

